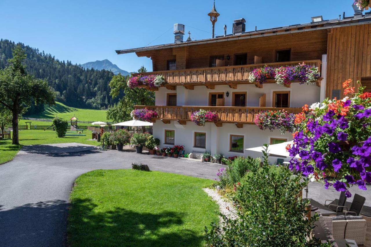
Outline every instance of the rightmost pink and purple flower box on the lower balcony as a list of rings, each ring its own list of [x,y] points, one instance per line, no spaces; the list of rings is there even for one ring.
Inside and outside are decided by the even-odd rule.
[[[263,111],[255,116],[255,124],[262,130],[273,131],[278,129],[282,134],[286,131],[294,132],[295,114],[282,111]]]

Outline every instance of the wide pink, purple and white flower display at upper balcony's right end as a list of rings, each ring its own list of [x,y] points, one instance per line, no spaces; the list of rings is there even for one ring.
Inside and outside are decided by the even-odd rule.
[[[249,81],[262,84],[267,78],[274,78],[276,83],[283,86],[293,81],[300,84],[313,84],[320,77],[318,67],[306,65],[304,62],[295,66],[282,66],[279,68],[268,67],[254,69],[249,75]]]

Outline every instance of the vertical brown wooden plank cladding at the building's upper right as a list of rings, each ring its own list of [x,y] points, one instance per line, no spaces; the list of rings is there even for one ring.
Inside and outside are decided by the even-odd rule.
[[[342,83],[371,76],[371,24],[336,27],[329,30],[327,42],[326,97]]]

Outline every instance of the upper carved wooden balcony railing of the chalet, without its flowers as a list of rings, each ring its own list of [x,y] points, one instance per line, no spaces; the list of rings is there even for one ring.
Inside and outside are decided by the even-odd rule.
[[[236,88],[237,84],[251,84],[249,82],[249,74],[256,68],[264,67],[264,65],[278,68],[281,66],[297,65],[298,63],[302,62],[305,62],[308,65],[315,65],[319,70],[321,69],[321,60],[306,60],[197,69],[164,70],[146,73],[134,73],[132,75],[162,75],[165,78],[164,86],[173,90],[175,90],[175,86],[178,85],[184,85],[187,89],[193,89],[193,87],[197,85],[205,85],[210,89],[214,89],[215,85],[229,85],[231,88]],[[267,80],[267,83],[274,82],[275,81],[273,79]],[[260,87],[260,85],[257,86]]]

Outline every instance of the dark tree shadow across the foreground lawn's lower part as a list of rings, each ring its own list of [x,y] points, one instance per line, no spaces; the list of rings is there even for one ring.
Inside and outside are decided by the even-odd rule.
[[[140,209],[119,207],[102,211],[96,207],[90,200],[71,202],[70,246],[200,246],[203,241],[200,233],[184,229],[180,212],[140,213]]]

